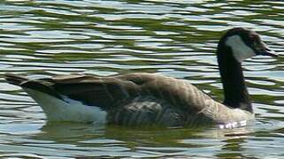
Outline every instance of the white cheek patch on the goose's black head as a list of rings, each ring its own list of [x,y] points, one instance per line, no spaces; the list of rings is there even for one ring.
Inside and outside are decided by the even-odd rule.
[[[250,49],[248,45],[242,42],[242,38],[239,35],[228,37],[226,39],[226,46],[232,49],[233,56],[239,63],[257,55],[253,49]]]

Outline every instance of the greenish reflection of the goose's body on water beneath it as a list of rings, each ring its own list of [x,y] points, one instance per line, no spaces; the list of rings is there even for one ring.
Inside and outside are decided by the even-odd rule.
[[[36,140],[53,140],[57,144],[76,143],[73,150],[93,150],[94,147],[108,147],[107,151],[120,153],[122,156],[180,156],[219,155],[219,151],[230,149],[232,140],[242,145],[243,140],[253,133],[252,128],[238,128],[237,130],[219,130],[209,128],[127,128],[121,126],[90,126],[90,125],[44,125],[42,133],[34,136]],[[219,140],[223,139],[223,140]],[[234,142],[235,143],[235,142]],[[237,144],[237,143],[235,143]],[[46,145],[46,144],[45,144]],[[49,144],[47,144],[49,145]],[[54,144],[53,144],[54,145]],[[241,146],[240,146],[241,147]],[[200,151],[208,154],[199,154]],[[128,152],[134,151],[134,154]],[[94,155],[92,155],[94,156]],[[95,155],[96,156],[96,155]]]

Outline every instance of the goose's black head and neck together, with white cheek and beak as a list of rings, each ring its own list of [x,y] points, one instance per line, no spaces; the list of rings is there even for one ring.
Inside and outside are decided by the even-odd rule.
[[[227,106],[252,112],[241,64],[257,55],[277,57],[254,31],[235,27],[220,39],[217,57]]]

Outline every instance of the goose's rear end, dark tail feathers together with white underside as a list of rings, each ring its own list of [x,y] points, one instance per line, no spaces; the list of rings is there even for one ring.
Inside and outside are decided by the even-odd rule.
[[[106,122],[104,110],[61,94],[53,87],[52,79],[27,79],[11,73],[5,74],[4,78],[8,83],[22,87],[42,107],[49,121]]]

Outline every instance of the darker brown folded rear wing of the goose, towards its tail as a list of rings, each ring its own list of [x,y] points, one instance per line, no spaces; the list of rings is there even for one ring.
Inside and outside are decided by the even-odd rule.
[[[52,83],[58,94],[104,110],[140,92],[140,87],[134,82],[118,77],[66,76],[54,78]]]

